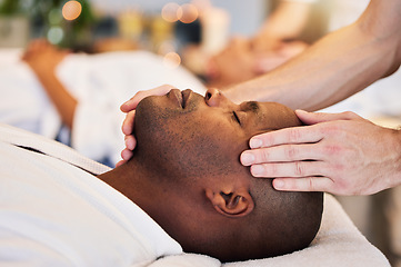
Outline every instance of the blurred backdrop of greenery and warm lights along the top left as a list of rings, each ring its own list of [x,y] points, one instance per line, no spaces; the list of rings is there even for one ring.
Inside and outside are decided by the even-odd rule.
[[[217,50],[231,33],[254,33],[268,9],[263,0],[0,0],[0,47],[47,38],[88,52],[106,39],[114,41],[108,49],[179,51],[203,41]]]

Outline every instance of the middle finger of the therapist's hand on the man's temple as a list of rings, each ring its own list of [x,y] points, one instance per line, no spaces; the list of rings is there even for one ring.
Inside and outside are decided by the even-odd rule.
[[[317,144],[282,145],[245,150],[240,160],[243,166],[278,161],[320,160],[321,149]]]

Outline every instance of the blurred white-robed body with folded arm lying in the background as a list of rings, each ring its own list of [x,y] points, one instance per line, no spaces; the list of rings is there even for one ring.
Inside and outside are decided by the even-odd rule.
[[[22,59],[0,66],[0,121],[62,141],[112,167],[124,146],[119,106],[132,92],[173,82],[205,91],[184,68],[171,68],[147,51],[72,53],[36,40]]]

